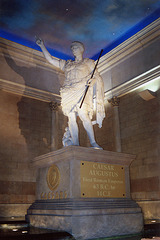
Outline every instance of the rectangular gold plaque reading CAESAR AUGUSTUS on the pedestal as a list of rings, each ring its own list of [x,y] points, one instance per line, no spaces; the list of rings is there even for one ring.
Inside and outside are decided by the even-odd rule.
[[[125,196],[124,166],[81,161],[81,197],[124,198]]]

